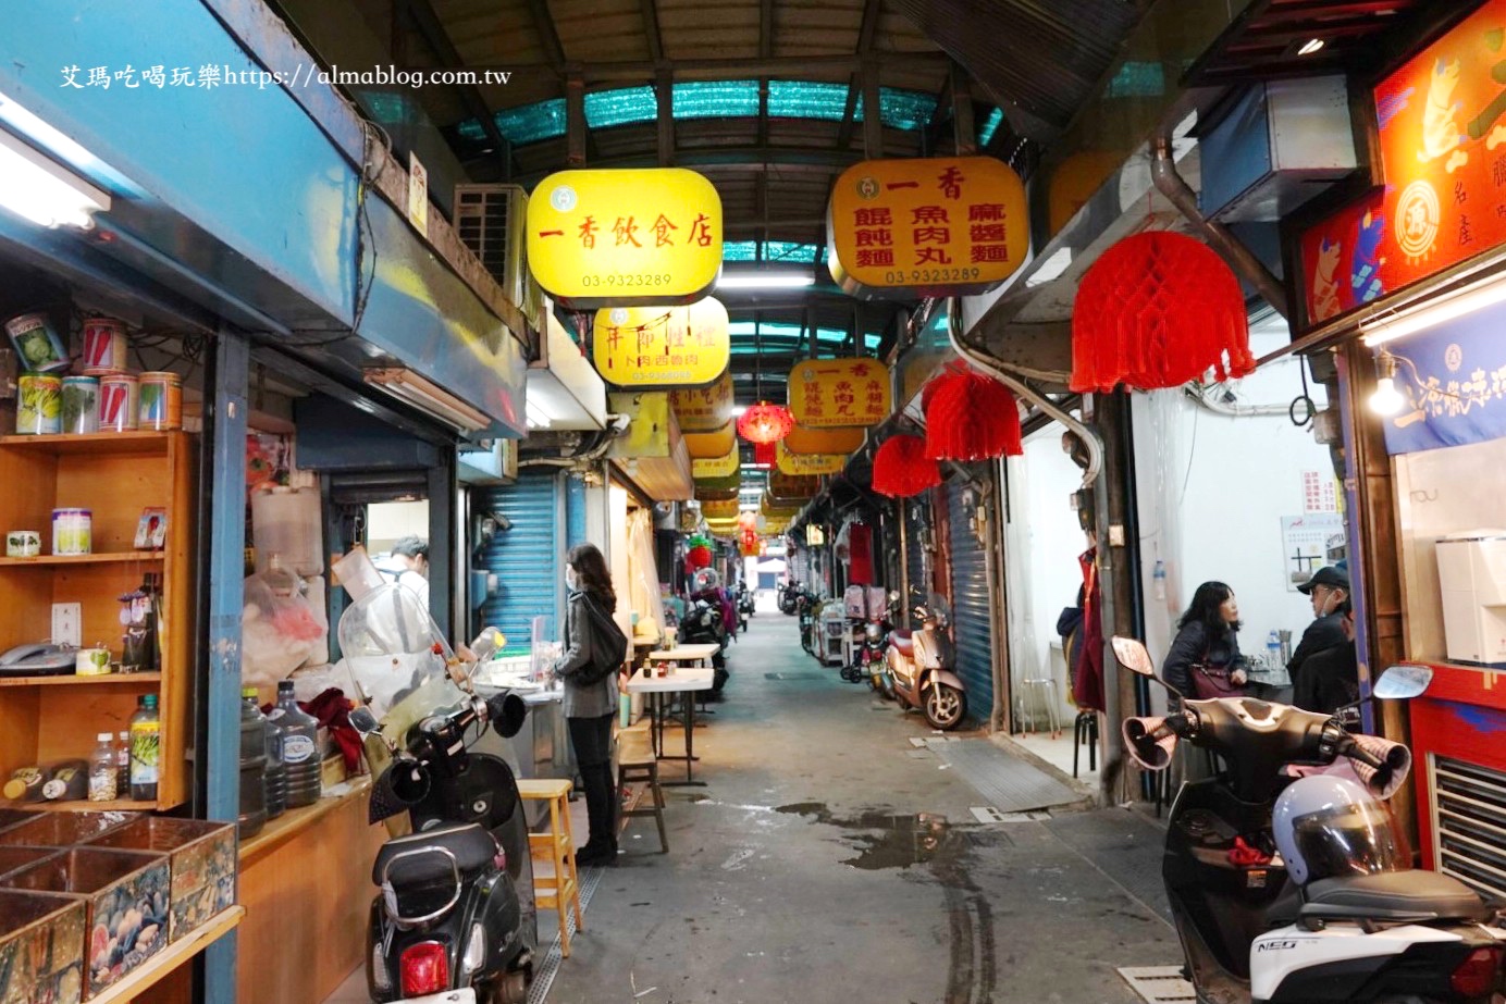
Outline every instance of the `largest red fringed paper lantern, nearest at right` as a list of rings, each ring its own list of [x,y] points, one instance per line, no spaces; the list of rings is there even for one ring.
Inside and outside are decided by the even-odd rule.
[[[1209,369],[1218,379],[1254,370],[1239,280],[1209,247],[1137,233],[1087,269],[1072,307],[1072,390],[1179,387]]]

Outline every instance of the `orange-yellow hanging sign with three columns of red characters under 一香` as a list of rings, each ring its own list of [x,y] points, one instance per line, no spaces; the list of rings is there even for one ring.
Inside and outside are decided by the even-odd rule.
[[[827,203],[827,263],[849,294],[980,294],[1030,251],[1026,187],[991,157],[863,161]]]

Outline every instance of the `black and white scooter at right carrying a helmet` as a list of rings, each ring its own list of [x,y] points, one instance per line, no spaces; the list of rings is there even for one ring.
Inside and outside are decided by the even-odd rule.
[[[1113,649],[1176,694],[1143,644]],[[1392,667],[1375,695],[1416,697],[1431,677]],[[1182,786],[1161,866],[1200,1002],[1500,999],[1506,912],[1399,850],[1381,799],[1407,778],[1407,747],[1250,697],[1182,698],[1164,718],[1125,720],[1123,739],[1149,771],[1182,739],[1227,765]]]

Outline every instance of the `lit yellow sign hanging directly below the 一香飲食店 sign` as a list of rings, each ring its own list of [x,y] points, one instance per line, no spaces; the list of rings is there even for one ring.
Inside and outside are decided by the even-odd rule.
[[[727,309],[711,297],[684,307],[605,307],[590,357],[617,387],[709,387],[732,358]]]

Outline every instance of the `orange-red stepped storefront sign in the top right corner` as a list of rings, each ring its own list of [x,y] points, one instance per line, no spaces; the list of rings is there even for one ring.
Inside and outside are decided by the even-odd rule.
[[[1375,87],[1384,188],[1303,233],[1307,324],[1506,242],[1506,0]]]

